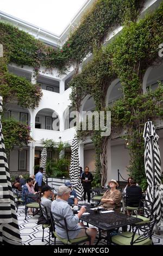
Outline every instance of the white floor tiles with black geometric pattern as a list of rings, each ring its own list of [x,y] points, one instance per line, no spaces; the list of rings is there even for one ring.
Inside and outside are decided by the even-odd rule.
[[[24,220],[24,206],[18,206],[18,224],[20,226],[21,238],[23,245],[48,245],[48,229],[45,229],[44,242],[42,242],[42,225],[37,225],[37,218],[39,215],[27,215],[27,220]],[[155,245],[163,245],[163,222],[159,227],[160,235],[153,235],[153,242]],[[95,241],[96,242],[96,241]],[[99,245],[105,245],[105,241],[101,241]],[[51,238],[51,245],[54,245],[54,240]],[[57,240],[57,245],[61,245]]]

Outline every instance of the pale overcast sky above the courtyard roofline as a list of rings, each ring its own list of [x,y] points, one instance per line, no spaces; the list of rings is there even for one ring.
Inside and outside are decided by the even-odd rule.
[[[0,0],[0,10],[60,35],[86,0]]]

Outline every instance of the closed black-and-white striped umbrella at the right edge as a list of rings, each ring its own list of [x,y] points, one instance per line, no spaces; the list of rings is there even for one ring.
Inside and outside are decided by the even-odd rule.
[[[161,185],[161,160],[158,144],[159,136],[156,134],[152,121],[145,124],[143,132],[145,139],[145,171],[148,182],[146,199],[153,202],[153,216],[160,224],[163,213],[163,191]]]

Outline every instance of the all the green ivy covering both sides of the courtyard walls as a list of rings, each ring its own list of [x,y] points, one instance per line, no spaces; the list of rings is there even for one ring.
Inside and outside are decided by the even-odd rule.
[[[48,70],[57,68],[64,71],[73,64],[76,75],[71,81],[72,106],[79,109],[83,97],[90,94],[93,95],[97,111],[111,110],[112,133],[121,129],[127,131],[131,154],[130,172],[135,177],[137,175],[138,182],[145,176],[143,126],[148,118],[162,118],[162,86],[160,84],[154,93],[143,95],[142,77],[148,66],[159,60],[158,46],[163,41],[163,5],[153,14],[136,22],[143,3],[142,0],[96,1],[83,17],[80,26],[58,50],[45,46],[16,27],[0,22],[0,44],[4,47],[4,57],[0,59],[0,94],[4,98],[4,105],[15,96],[22,107],[34,108],[42,96],[37,85],[9,74],[7,64],[14,62],[21,66],[32,66],[36,75],[41,65]],[[104,48],[102,44],[106,34],[117,25],[124,25],[123,31]],[[79,73],[79,63],[90,52],[93,52],[93,59]],[[105,106],[106,91],[117,77],[120,78],[124,98],[108,108]],[[83,137],[84,134],[81,132],[78,136]],[[106,164],[107,139],[101,138],[99,132],[92,132],[92,139],[96,145],[97,170],[101,172],[102,155],[103,163]]]

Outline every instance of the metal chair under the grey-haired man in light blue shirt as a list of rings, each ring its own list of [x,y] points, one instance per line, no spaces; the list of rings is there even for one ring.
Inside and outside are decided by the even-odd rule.
[[[74,232],[76,230],[69,230],[67,227],[67,222],[66,222],[66,218],[59,215],[59,214],[55,214],[54,212],[50,212],[51,214],[51,223],[52,223],[52,228],[53,228],[53,233],[54,233],[54,245],[56,243],[56,239],[58,238],[64,245],[79,245],[79,243],[83,243],[86,241],[89,241],[89,244],[91,245],[91,237],[89,235],[86,234],[86,228],[82,227],[83,229],[85,229],[85,236],[82,237],[77,237],[74,239],[70,239],[69,237],[69,232]],[[66,231],[66,236],[67,238],[62,238],[60,237],[57,232],[55,231],[55,227],[59,227],[62,230]],[[80,228],[81,230],[81,228]]]

